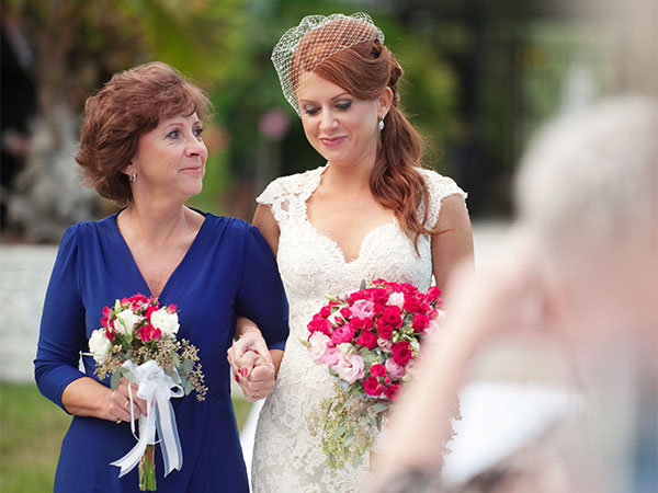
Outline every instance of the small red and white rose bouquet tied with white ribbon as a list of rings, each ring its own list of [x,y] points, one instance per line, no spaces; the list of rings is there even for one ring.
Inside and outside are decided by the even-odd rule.
[[[131,429],[137,444],[111,466],[121,468],[120,478],[139,465],[139,489],[156,491],[155,446],[158,432],[164,475],[183,466],[171,398],[196,391],[205,399],[207,389],[201,371],[197,348],[186,340],[177,340],[179,320],[175,305],[160,307],[155,297],[137,294],[105,307],[101,329],[91,333],[90,355],[97,362],[95,375],[102,380],[112,374],[112,389],[122,377],[137,385],[136,395],[147,403],[148,415],[139,416],[139,437],[135,434],[133,391]]]

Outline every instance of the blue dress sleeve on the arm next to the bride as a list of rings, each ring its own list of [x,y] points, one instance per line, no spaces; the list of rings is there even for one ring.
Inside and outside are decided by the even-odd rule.
[[[288,303],[270,245],[249,226],[242,260],[242,282],[237,312],[253,320],[270,349],[285,349],[288,336]]]

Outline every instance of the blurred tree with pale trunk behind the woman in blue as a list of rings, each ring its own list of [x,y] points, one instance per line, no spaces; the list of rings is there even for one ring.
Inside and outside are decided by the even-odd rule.
[[[84,99],[112,73],[150,59],[220,84],[223,59],[239,47],[242,1],[8,0],[36,55],[38,114],[25,169],[10,197],[9,219],[33,241],[54,241],[94,216],[97,199],[79,185],[72,156]],[[220,131],[208,131],[222,145]],[[211,149],[217,150],[217,149]],[[220,149],[219,149],[220,150]],[[214,159],[219,165],[222,160]]]

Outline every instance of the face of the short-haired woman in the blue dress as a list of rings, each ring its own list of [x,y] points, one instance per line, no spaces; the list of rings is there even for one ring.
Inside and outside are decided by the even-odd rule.
[[[183,200],[201,192],[208,151],[201,137],[196,113],[161,121],[139,138],[137,152],[125,172],[136,173],[133,195],[140,192],[180,196]]]

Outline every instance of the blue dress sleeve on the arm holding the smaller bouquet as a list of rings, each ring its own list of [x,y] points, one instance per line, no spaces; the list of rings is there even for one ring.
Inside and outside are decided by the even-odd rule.
[[[64,233],[50,282],[34,359],[34,378],[39,391],[61,409],[61,393],[73,380],[84,377],[78,369],[80,351],[87,348],[84,307],[79,283],[78,225]],[[66,410],[65,410],[66,411]]]

